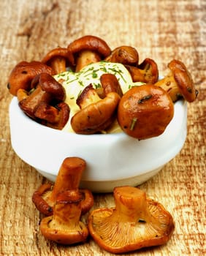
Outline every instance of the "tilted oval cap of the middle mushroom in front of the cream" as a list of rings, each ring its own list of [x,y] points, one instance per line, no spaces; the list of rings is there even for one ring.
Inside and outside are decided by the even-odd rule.
[[[78,134],[101,132],[112,124],[120,96],[110,92],[104,99],[79,110],[71,119],[72,129]]]

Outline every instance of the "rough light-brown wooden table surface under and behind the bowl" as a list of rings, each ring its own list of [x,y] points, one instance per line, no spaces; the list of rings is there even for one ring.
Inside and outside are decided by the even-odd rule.
[[[131,45],[140,61],[149,57],[162,75],[180,59],[199,90],[188,104],[188,135],[183,149],[161,172],[140,186],[172,214],[175,231],[164,246],[128,255],[206,255],[205,246],[205,0],[8,0],[0,1],[0,255],[110,255],[90,238],[78,246],[46,241],[39,212],[31,202],[45,178],[12,150],[7,90],[19,61],[40,60],[58,45],[78,37],[102,37],[110,48]],[[94,207],[112,206],[112,194],[94,195]]]

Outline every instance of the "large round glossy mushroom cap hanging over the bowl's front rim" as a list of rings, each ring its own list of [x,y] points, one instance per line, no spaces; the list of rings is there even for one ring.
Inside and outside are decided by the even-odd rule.
[[[173,115],[169,94],[150,84],[129,89],[118,105],[118,124],[123,132],[139,140],[161,135]]]

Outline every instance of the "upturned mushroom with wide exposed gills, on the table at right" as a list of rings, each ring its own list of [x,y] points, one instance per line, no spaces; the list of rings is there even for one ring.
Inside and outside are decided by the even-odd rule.
[[[88,229],[100,247],[112,253],[130,252],[167,243],[174,223],[164,207],[134,187],[114,189],[115,208],[97,208]]]

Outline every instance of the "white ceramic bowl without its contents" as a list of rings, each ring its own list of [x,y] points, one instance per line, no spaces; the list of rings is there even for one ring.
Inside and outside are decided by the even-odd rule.
[[[87,162],[81,187],[112,192],[117,186],[137,186],[161,170],[183,148],[187,133],[187,104],[175,103],[175,115],[162,135],[135,140],[122,133],[77,135],[45,127],[28,118],[14,97],[9,106],[12,148],[42,176],[55,181],[66,157]]]

